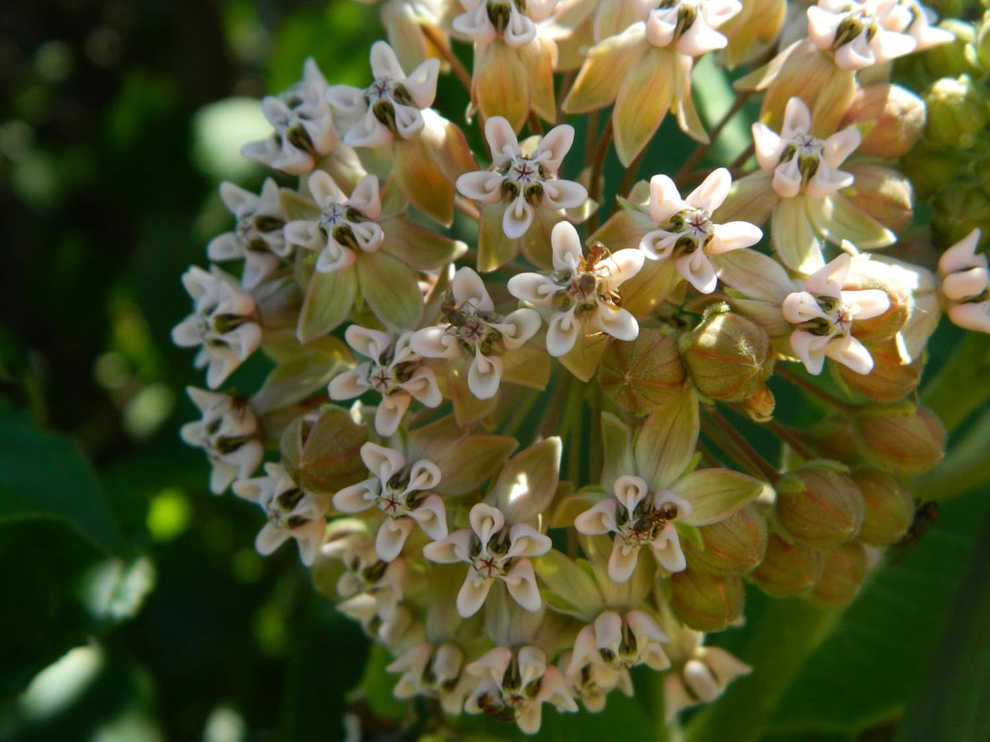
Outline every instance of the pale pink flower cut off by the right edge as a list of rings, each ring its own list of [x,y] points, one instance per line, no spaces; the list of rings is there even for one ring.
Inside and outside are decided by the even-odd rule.
[[[976,254],[980,230],[975,229],[949,247],[939,258],[941,295],[945,314],[955,325],[990,332],[990,271],[987,256]]]

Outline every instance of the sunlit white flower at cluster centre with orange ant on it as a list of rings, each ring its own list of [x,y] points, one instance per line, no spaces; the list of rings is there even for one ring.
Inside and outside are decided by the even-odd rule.
[[[509,293],[536,307],[552,311],[546,330],[546,350],[560,356],[574,347],[582,328],[620,340],[640,333],[636,318],[622,308],[619,287],[639,273],[644,253],[624,249],[609,253],[592,247],[584,256],[581,238],[569,222],[551,233],[551,273],[520,273],[509,279]]]

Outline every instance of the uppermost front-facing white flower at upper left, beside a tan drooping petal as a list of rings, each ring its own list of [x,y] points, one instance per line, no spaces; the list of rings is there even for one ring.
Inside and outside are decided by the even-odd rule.
[[[440,60],[427,59],[408,76],[395,51],[385,42],[371,46],[374,81],[365,89],[332,85],[327,99],[350,124],[344,143],[350,146],[388,146],[396,135],[416,137],[424,127],[422,111],[437,96]]]

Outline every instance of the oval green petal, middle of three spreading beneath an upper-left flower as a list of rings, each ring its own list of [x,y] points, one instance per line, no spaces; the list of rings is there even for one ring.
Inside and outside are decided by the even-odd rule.
[[[415,327],[423,295],[413,269],[380,250],[359,254],[356,265],[361,294],[377,318],[393,329]]]

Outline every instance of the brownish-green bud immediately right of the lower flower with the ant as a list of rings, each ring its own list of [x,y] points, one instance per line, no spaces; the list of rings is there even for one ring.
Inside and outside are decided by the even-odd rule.
[[[682,543],[688,569],[713,575],[744,575],[763,561],[766,518],[751,504],[698,531],[703,549],[686,540]]]

